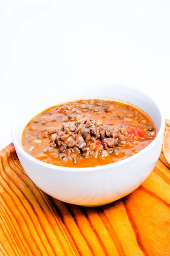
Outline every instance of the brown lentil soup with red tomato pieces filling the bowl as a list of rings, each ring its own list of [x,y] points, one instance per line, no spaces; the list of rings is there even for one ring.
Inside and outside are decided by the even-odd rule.
[[[23,131],[23,149],[45,163],[92,167],[130,157],[156,136],[153,122],[119,102],[89,99],[48,108]]]

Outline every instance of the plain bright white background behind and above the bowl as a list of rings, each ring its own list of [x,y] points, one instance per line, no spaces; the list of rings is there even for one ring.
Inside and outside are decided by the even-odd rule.
[[[138,87],[170,118],[170,1],[0,0],[0,149],[26,100],[85,81]]]

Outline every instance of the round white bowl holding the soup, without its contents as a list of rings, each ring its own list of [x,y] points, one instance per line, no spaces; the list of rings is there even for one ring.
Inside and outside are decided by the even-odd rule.
[[[104,166],[69,168],[43,163],[27,154],[21,137],[27,123],[38,113],[62,102],[77,99],[124,100],[142,108],[153,119],[156,138],[139,153]],[[121,99],[121,100],[120,100]],[[165,119],[159,106],[139,90],[113,84],[78,84],[48,89],[17,113],[12,138],[28,177],[44,192],[61,201],[83,206],[111,203],[135,190],[150,175],[161,152]]]

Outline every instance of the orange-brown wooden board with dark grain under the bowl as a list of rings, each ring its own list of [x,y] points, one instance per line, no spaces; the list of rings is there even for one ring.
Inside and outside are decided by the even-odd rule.
[[[166,121],[166,128],[170,120]],[[11,143],[0,152],[0,256],[170,255],[170,165],[104,207],[65,204],[24,172]]]

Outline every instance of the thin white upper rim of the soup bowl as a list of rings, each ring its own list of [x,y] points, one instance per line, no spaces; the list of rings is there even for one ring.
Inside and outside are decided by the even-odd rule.
[[[67,85],[75,85],[76,83],[69,83]],[[79,83],[80,84],[80,83]],[[82,83],[81,83],[82,84]],[[83,83],[83,84],[96,84],[96,83]],[[106,84],[99,84],[97,83],[97,85],[112,85],[112,86],[116,86],[117,84],[113,84],[113,83],[106,83]],[[22,148],[22,146],[18,143],[16,135],[15,135],[15,131],[14,131],[14,127],[17,121],[17,116],[14,118],[13,122],[12,122],[12,126],[11,126],[11,136],[14,142],[14,147],[17,149],[17,151],[22,155],[22,157],[24,157],[26,160],[33,162],[36,165],[45,167],[47,169],[54,169],[56,171],[64,171],[64,172],[92,172],[92,171],[99,171],[102,169],[110,169],[110,168],[114,168],[117,166],[122,166],[128,162],[131,162],[133,160],[135,160],[136,158],[140,157],[142,154],[147,153],[147,151],[150,150],[150,148],[153,148],[154,145],[157,143],[157,141],[160,139],[162,133],[164,132],[164,127],[165,127],[165,118],[164,118],[164,113],[162,111],[162,109],[159,107],[159,104],[157,103],[157,101],[155,99],[153,99],[150,95],[148,95],[147,93],[136,89],[132,86],[129,85],[118,85],[118,86],[123,86],[132,90],[135,90],[136,92],[142,93],[144,96],[149,97],[152,102],[156,105],[157,110],[159,111],[159,114],[161,116],[161,125],[160,125],[160,129],[158,134],[156,134],[155,139],[149,144],[147,145],[144,149],[142,149],[141,151],[139,151],[137,154],[131,156],[131,157],[127,157],[123,160],[114,162],[114,163],[109,163],[109,164],[105,164],[102,166],[93,166],[93,167],[65,167],[65,166],[57,166],[57,165],[53,165],[53,164],[49,164],[49,163],[44,163],[34,157],[32,157],[30,154],[28,154],[26,151],[24,151],[24,149]]]

